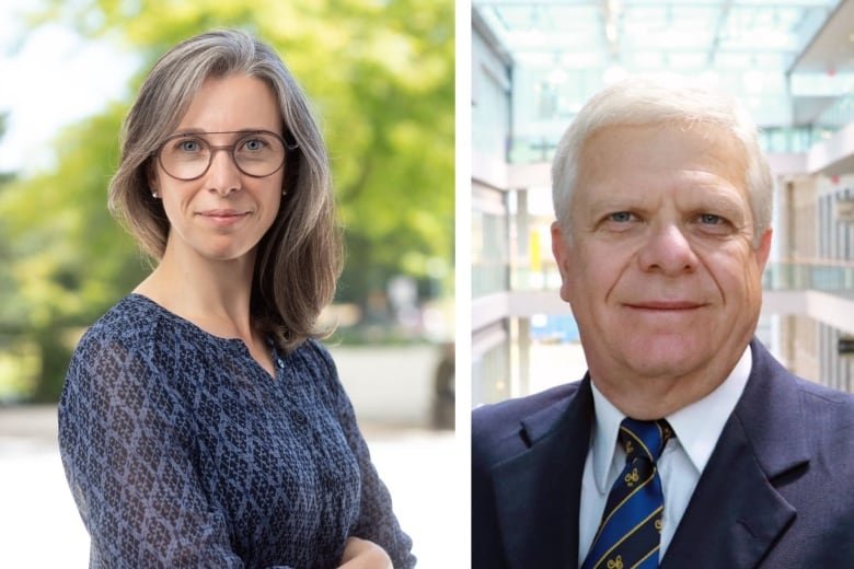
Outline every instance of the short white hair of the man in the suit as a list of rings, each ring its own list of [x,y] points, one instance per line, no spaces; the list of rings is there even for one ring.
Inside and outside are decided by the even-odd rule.
[[[552,200],[565,239],[570,236],[573,190],[585,142],[610,126],[712,125],[731,133],[745,150],[745,187],[753,213],[753,243],[771,227],[773,181],[753,120],[732,97],[677,80],[635,77],[597,93],[557,144],[552,162]]]

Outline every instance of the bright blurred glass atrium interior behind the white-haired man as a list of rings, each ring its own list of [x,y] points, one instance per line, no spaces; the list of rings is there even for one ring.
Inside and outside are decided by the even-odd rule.
[[[854,391],[854,0],[474,0],[471,57],[473,405],[586,371],[550,161],[593,93],[657,72],[748,106],[775,183],[758,336]]]

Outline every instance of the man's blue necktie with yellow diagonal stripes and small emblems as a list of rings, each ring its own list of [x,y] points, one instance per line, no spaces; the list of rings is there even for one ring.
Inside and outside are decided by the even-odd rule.
[[[623,419],[620,443],[625,468],[608,495],[602,522],[581,569],[658,567],[665,496],[656,461],[673,430],[661,419]]]

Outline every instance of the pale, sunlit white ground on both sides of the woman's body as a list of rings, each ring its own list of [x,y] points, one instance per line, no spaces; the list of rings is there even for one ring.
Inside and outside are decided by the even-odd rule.
[[[89,536],[66,485],[53,407],[0,408],[0,567],[85,568]],[[453,434],[363,426],[418,567],[468,567],[465,498]]]

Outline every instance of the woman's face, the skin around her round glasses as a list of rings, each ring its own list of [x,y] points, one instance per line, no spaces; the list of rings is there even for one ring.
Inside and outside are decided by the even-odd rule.
[[[191,154],[207,142],[214,149],[210,167],[196,179],[182,181],[157,161],[151,181],[171,225],[166,255],[254,264],[255,247],[279,209],[285,169],[253,177],[238,169],[230,150],[216,147],[240,142],[240,148],[256,151],[263,141],[243,137],[261,130],[282,133],[276,96],[264,81],[249,76],[205,81],[172,133],[192,136],[171,139],[169,144]]]

